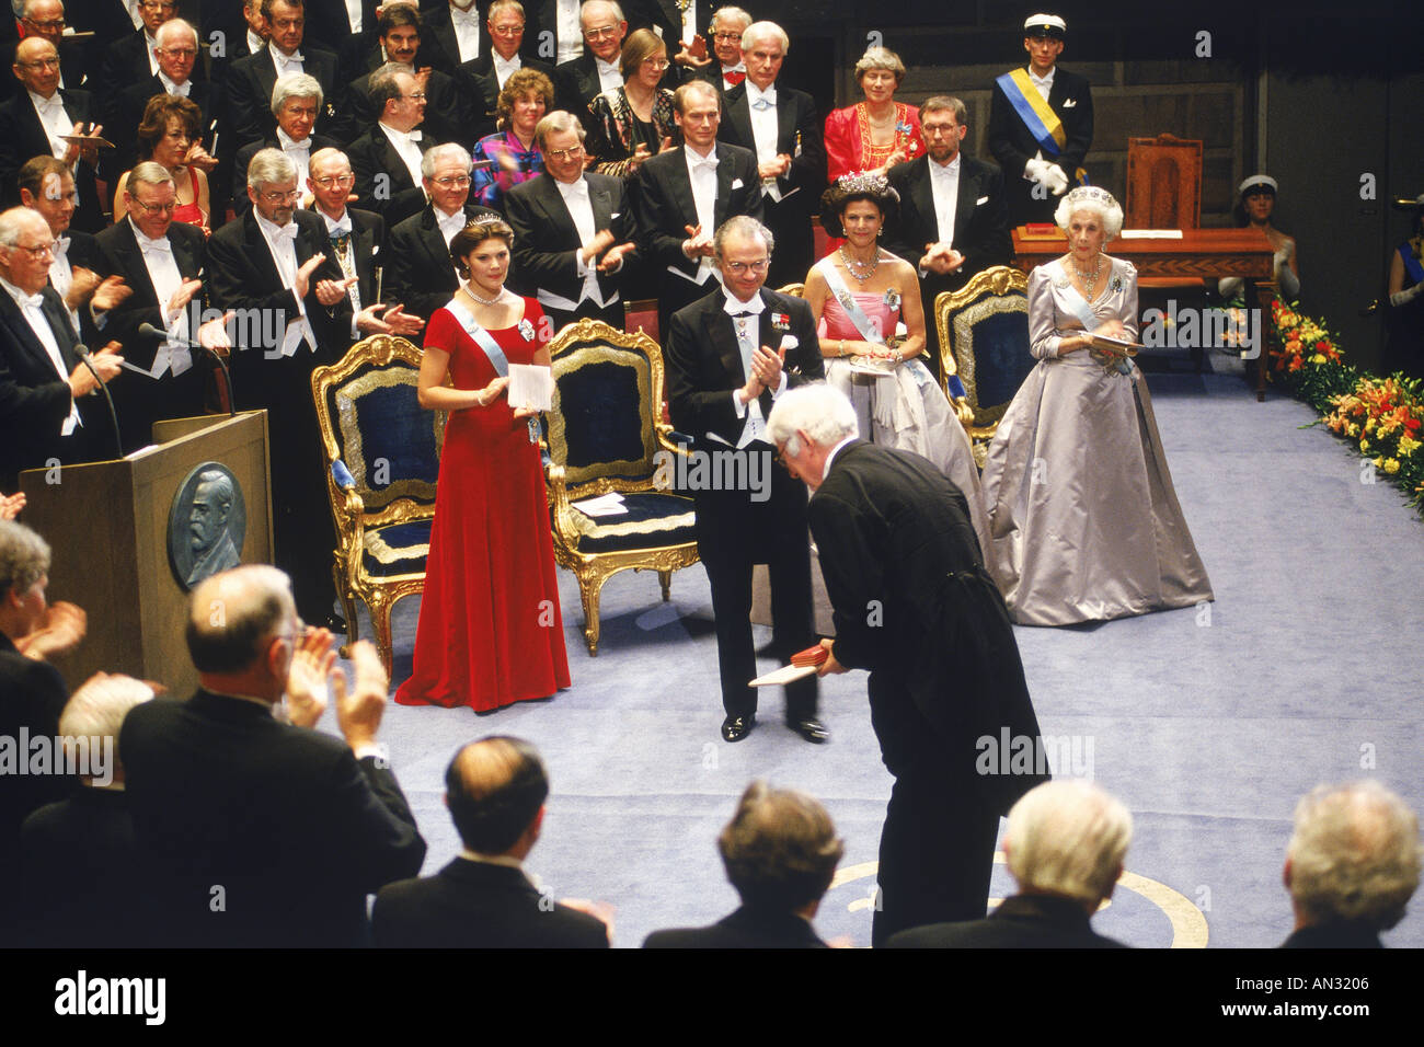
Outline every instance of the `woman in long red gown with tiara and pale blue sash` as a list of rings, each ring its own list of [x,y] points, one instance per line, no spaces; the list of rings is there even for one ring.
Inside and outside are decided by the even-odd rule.
[[[420,403],[450,422],[402,705],[487,712],[568,687],[537,430],[500,376],[506,362],[550,366],[543,309],[504,289],[513,242],[498,219],[457,232],[450,256],[468,282],[426,326]]]

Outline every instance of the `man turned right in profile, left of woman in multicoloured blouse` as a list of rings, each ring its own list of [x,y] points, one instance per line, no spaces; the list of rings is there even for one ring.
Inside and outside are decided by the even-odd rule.
[[[370,103],[379,114],[376,125],[353,141],[346,155],[360,202],[396,228],[426,199],[422,164],[436,142],[417,130],[426,118],[426,95],[409,67],[386,63],[372,73]]]

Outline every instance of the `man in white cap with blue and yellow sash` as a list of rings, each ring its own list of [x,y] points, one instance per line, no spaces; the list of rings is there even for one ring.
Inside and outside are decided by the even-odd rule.
[[[1081,165],[1092,145],[1092,91],[1057,66],[1067,28],[1057,14],[1028,19],[1028,67],[994,81],[988,148],[1004,168],[1010,225],[1054,221],[1055,197],[1087,184]]]

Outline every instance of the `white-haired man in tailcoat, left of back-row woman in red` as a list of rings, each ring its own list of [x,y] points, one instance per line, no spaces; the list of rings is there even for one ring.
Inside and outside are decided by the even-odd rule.
[[[718,140],[756,154],[766,226],[776,236],[773,288],[806,279],[816,261],[810,217],[826,188],[826,145],[816,103],[779,87],[790,38],[775,21],[756,21],[742,36],[746,78],[725,95]]]

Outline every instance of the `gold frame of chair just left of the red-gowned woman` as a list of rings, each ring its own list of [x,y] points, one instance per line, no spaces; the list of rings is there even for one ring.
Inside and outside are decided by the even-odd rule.
[[[429,504],[420,504],[414,497],[423,494],[419,481],[406,481],[393,486],[390,497],[379,506],[367,509],[366,501],[355,489],[343,490],[336,486],[332,476],[332,463],[342,457],[342,444],[337,442],[337,429],[343,430],[350,446],[349,419],[332,419],[326,409],[326,393],[332,386],[343,386],[367,368],[389,368],[392,363],[410,365],[412,385],[419,380],[422,350],[403,338],[393,335],[373,335],[353,345],[347,353],[336,363],[316,368],[312,372],[312,399],[316,405],[316,422],[322,430],[322,452],[326,460],[326,494],[332,503],[332,519],[336,523],[336,550],[333,554],[332,578],[336,581],[336,593],[342,598],[346,610],[346,647],[342,654],[350,652],[350,644],[356,635],[356,600],[360,600],[370,610],[372,628],[376,632],[376,648],[380,660],[390,672],[392,641],[390,641],[390,611],[397,601],[409,595],[424,591],[426,573],[394,574],[375,578],[362,566],[362,551],[366,544],[366,531],[384,527],[387,524],[412,523],[414,520],[434,519],[436,484],[430,484]],[[356,377],[356,380],[360,380]],[[340,407],[337,407],[340,410]],[[433,412],[436,449],[444,446],[446,412]],[[347,423],[347,424],[343,424]],[[353,447],[359,453],[359,446]],[[345,459],[343,459],[345,460]],[[355,472],[355,470],[353,470]],[[362,470],[357,474],[365,474]]]

